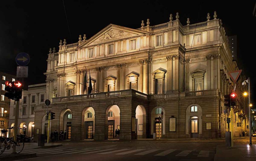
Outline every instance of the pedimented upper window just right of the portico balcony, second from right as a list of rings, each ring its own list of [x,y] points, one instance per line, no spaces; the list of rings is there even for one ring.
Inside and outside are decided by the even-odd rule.
[[[164,93],[164,81],[167,70],[159,68],[152,73],[154,94]]]

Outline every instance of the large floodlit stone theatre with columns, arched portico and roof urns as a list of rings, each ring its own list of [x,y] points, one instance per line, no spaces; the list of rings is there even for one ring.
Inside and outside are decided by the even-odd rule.
[[[49,50],[45,73],[46,98],[56,113],[51,132],[67,130],[71,140],[152,138],[154,133],[224,137],[230,116],[224,95],[234,86],[233,135],[247,132],[248,100],[241,96],[246,78],[240,76],[236,85],[231,81],[228,72],[238,70],[237,63],[222,21],[216,12],[213,17],[192,25],[188,19],[183,26],[177,13],[160,25],[150,26],[149,19],[138,29],[110,24],[88,40],[86,35],[74,44],[61,40],[58,52]],[[45,115],[37,106],[35,129],[42,133]]]

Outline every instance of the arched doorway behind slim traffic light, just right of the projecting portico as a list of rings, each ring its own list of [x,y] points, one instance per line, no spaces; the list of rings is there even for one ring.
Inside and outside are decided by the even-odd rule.
[[[153,133],[156,133],[157,138],[162,138],[162,135],[165,135],[165,111],[160,106],[155,107],[151,112],[151,135]]]

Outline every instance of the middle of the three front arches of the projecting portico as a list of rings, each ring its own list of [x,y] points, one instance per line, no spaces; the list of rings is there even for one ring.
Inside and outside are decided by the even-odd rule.
[[[92,107],[87,107],[82,111],[82,131],[84,132],[84,139],[93,139],[94,136],[94,119],[95,112]]]

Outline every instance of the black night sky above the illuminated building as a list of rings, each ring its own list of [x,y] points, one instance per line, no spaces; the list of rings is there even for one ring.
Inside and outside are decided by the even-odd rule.
[[[124,3],[125,2],[125,3]],[[162,3],[161,3],[162,2]],[[186,25],[206,21],[207,13],[213,19],[222,19],[228,36],[237,35],[238,64],[243,74],[251,78],[255,91],[255,22],[252,16],[254,2],[243,1],[67,1],[64,0],[71,37],[61,0],[56,1],[5,1],[0,5],[0,70],[16,73],[15,57],[20,52],[30,55],[29,83],[45,82],[49,48],[58,50],[59,40],[67,44],[77,42],[79,35],[87,39],[110,23],[130,28],[141,27],[141,20],[150,19],[150,25],[169,21],[170,13]],[[208,3],[207,3],[208,2]],[[71,39],[72,38],[72,39]]]

